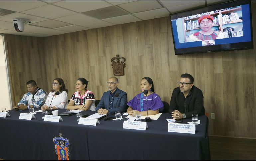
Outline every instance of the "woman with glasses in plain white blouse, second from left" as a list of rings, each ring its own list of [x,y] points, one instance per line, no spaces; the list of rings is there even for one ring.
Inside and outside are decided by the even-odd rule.
[[[42,110],[64,109],[67,106],[68,90],[66,89],[64,81],[61,78],[56,78],[53,80],[52,85],[53,85],[53,90],[47,96],[45,104],[41,106]],[[59,95],[55,95],[57,91],[60,92]]]

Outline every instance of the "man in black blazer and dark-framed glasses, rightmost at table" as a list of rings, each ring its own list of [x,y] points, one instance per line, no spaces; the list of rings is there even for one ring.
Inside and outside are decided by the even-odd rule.
[[[203,93],[193,85],[190,74],[182,74],[179,87],[172,93],[169,113],[174,119],[191,118],[192,114],[204,115]]]

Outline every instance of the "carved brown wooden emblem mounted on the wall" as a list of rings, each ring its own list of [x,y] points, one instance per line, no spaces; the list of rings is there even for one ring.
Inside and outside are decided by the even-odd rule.
[[[116,59],[116,62],[114,61]],[[120,59],[123,59],[120,62]],[[125,58],[124,57],[120,57],[119,55],[116,55],[116,57],[113,57],[111,59],[111,66],[113,68],[113,72],[115,76],[122,76],[124,75],[124,67],[125,67]]]

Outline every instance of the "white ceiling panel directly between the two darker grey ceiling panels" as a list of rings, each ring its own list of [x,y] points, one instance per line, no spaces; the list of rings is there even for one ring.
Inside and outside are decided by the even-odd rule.
[[[81,24],[81,22],[95,21],[96,19],[90,16],[86,16],[84,14],[78,13],[70,16],[60,17],[55,20],[78,25],[78,24]]]

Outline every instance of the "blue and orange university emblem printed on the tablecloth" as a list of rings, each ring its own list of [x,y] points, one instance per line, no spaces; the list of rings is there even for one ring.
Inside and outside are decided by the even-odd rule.
[[[58,155],[58,160],[69,160],[68,158],[68,145],[69,140],[62,137],[62,134],[59,133],[60,137],[53,138],[53,142],[55,143],[55,152]]]

